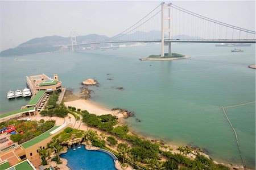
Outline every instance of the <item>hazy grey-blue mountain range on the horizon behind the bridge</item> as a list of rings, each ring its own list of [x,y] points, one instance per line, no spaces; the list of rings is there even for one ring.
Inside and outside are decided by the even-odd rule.
[[[129,40],[133,39],[160,39],[160,31],[150,31],[150,32],[134,32],[130,35],[122,35],[118,39]],[[190,37],[187,35],[174,36],[173,39],[201,39],[198,37]],[[108,36],[89,34],[84,36],[77,36],[77,44],[86,42],[98,42],[109,39]],[[44,53],[44,52],[57,52],[57,51],[67,51],[67,45],[71,44],[70,38],[65,38],[62,36],[44,36],[43,38],[34,38],[28,40],[25,43],[18,45],[18,47],[6,49],[0,53],[0,56],[19,56],[32,53]],[[100,48],[101,46],[106,46],[109,44],[92,44],[89,47]]]

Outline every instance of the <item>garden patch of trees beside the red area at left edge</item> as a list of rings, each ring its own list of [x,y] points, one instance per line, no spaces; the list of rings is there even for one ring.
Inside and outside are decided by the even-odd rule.
[[[12,134],[10,139],[13,142],[18,142],[18,144],[27,142],[30,139],[43,134],[50,128],[55,125],[55,121],[17,121],[17,120],[10,120],[6,122],[0,123],[0,128],[4,128],[7,126],[13,125],[16,128],[16,134]]]

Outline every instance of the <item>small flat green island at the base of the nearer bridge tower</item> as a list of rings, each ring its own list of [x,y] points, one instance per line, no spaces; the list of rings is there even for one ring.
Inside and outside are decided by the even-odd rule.
[[[164,56],[161,57],[161,55],[150,55],[148,57],[145,57],[145,58],[142,58],[142,59],[139,59],[139,60],[180,60],[180,59],[189,59],[191,57],[189,56],[184,56],[184,55],[181,55],[181,54],[178,54],[178,53],[172,53],[171,56],[168,55],[168,53],[164,53]]]

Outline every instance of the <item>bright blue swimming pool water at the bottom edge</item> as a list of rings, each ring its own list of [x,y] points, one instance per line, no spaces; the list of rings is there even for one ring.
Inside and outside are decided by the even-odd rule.
[[[66,154],[61,154],[60,157],[68,160],[68,167],[72,170],[117,170],[110,155],[101,151],[88,151],[85,145],[81,145],[81,148],[71,147]]]

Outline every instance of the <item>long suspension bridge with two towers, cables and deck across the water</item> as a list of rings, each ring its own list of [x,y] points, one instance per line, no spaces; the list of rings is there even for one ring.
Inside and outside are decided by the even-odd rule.
[[[172,3],[160,3],[133,26],[119,34],[98,42],[77,43],[76,34],[71,35],[71,50],[77,46],[108,43],[161,43],[161,56],[164,46],[168,46],[171,56],[171,43],[249,43],[253,44],[256,32],[233,26],[232,24],[210,19],[193,13]]]

